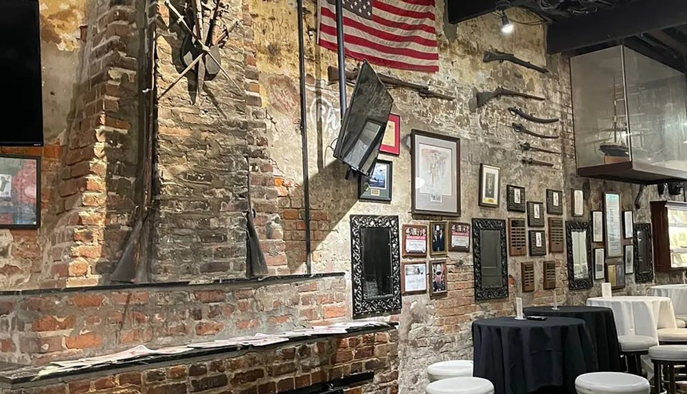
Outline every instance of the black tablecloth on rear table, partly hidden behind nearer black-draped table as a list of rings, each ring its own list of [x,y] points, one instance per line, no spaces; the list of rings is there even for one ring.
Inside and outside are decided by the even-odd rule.
[[[530,307],[525,308],[524,313],[526,316],[561,316],[585,320],[589,335],[592,336],[599,371],[623,371],[620,364],[620,345],[616,320],[613,320],[613,309],[561,305],[557,311],[550,306]]]

